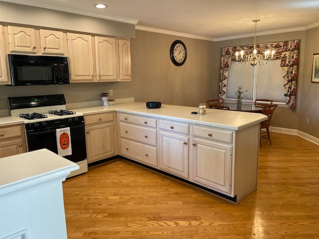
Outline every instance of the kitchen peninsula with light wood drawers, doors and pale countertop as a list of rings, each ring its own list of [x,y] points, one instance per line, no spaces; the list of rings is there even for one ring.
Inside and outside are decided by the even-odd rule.
[[[107,134],[116,141],[108,147],[109,156],[148,165],[233,202],[257,187],[259,123],[267,119],[262,114],[207,109],[205,115],[193,115],[198,108],[148,109],[140,102],[72,111],[82,113],[86,125],[93,123],[99,132],[101,123],[108,125]],[[87,136],[93,132],[86,131]]]

